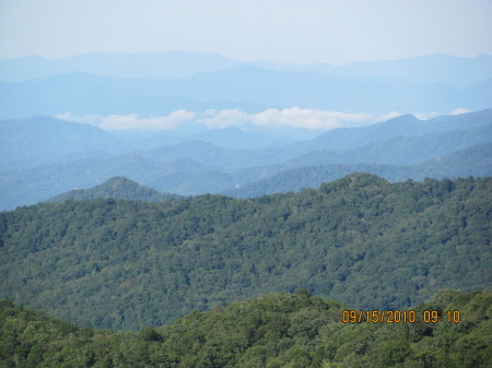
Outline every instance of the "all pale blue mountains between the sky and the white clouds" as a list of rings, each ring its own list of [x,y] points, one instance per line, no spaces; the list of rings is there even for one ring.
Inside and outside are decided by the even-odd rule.
[[[492,100],[492,57],[445,55],[395,61],[281,66],[210,54],[87,54],[0,60],[0,118],[164,116],[300,107],[330,111],[448,114]]]

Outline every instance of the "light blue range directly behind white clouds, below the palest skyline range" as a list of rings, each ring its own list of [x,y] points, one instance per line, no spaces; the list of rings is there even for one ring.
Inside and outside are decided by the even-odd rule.
[[[0,117],[74,115],[166,116],[187,109],[307,108],[328,111],[436,111],[490,108],[491,80],[480,87],[419,84],[407,80],[320,72],[278,72],[241,66],[189,79],[117,79],[67,73],[0,83]]]

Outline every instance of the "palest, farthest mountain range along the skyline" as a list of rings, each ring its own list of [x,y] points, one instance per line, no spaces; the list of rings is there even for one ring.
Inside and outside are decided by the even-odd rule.
[[[435,54],[400,60],[353,62],[343,66],[327,63],[274,63],[255,61],[244,63],[216,54],[186,51],[165,52],[90,52],[62,59],[30,56],[0,60],[0,81],[23,82],[56,74],[82,72],[113,78],[189,78],[200,72],[213,72],[244,64],[281,72],[318,71],[335,75],[367,75],[406,79],[417,83],[441,83],[470,86],[491,78],[492,56],[473,58]]]

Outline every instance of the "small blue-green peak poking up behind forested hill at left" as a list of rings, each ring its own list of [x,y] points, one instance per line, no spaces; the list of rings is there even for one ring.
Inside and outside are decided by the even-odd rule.
[[[91,200],[96,198],[118,198],[142,202],[164,202],[181,198],[177,194],[161,193],[155,189],[141,186],[125,177],[113,177],[99,186],[90,189],[74,189],[51,199],[52,202],[68,200]]]

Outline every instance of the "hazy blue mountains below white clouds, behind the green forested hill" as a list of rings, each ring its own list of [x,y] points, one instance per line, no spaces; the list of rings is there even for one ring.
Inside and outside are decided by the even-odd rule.
[[[230,133],[246,141],[256,136],[220,130],[203,136],[221,142]],[[115,176],[165,193],[245,198],[317,188],[356,171],[391,181],[492,175],[492,110],[426,121],[403,116],[271,149],[233,150],[195,140],[134,151],[143,144],[44,117],[0,122],[0,140],[1,210]]]

